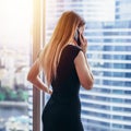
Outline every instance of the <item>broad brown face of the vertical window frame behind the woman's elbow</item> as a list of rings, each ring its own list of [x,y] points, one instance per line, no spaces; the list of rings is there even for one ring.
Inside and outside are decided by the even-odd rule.
[[[33,0],[33,62],[37,58],[41,43],[41,0]],[[41,130],[41,93],[33,86],[33,131]]]

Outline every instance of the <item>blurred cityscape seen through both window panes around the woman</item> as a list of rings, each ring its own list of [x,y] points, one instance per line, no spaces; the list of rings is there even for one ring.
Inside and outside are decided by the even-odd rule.
[[[41,1],[45,43],[63,11],[86,21],[95,84],[80,92],[85,131],[131,131],[131,0]],[[33,0],[0,0],[0,131],[32,131]]]

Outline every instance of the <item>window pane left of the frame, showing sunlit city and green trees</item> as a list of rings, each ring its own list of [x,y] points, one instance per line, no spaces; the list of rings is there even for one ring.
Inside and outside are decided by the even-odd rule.
[[[0,131],[32,130],[32,14],[33,0],[0,0]]]

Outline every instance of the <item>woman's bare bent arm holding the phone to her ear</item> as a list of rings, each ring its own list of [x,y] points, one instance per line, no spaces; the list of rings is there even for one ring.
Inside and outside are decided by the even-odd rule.
[[[85,56],[87,50],[87,39],[84,38],[83,35],[84,26],[80,27],[79,32],[82,51],[80,51],[76,58],[74,59],[74,64],[80,83],[85,90],[91,90],[93,87],[94,78],[92,71],[90,70],[90,66]]]

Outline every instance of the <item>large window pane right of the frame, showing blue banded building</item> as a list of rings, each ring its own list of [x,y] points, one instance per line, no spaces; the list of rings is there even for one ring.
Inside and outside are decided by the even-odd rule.
[[[86,21],[87,59],[95,83],[92,91],[80,92],[85,131],[131,130],[130,9],[130,0],[46,1],[46,43],[63,11],[74,10]]]

